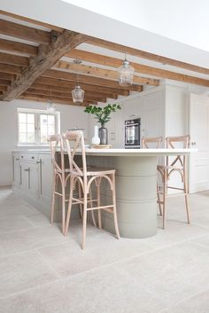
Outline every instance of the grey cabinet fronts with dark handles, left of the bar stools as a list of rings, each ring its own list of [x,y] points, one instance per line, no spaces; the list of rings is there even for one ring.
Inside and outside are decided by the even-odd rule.
[[[14,152],[12,159],[13,191],[50,216],[53,176],[50,152]]]

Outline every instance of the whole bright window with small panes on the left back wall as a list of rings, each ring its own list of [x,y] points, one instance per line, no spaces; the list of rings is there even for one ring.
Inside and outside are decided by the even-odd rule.
[[[58,112],[18,109],[19,145],[46,145],[47,137],[58,132]]]

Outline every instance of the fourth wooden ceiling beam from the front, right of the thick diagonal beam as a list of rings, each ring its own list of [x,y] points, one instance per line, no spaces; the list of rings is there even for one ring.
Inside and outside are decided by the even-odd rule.
[[[64,81],[71,81],[71,82],[77,82],[78,77],[77,74],[74,73],[67,73],[64,71],[58,71],[58,70],[47,70],[42,74],[43,77],[50,77],[50,78],[56,78],[61,79]],[[87,83],[87,84],[94,84],[98,86],[104,86],[104,87],[110,87],[110,88],[122,88],[118,82],[104,79],[100,77],[93,77],[88,75],[79,74],[79,82]],[[142,91],[142,86],[132,84],[130,87],[124,87],[124,90],[132,90],[132,91]]]

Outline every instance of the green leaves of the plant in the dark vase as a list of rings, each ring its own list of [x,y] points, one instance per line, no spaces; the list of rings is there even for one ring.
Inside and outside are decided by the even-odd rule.
[[[116,112],[117,110],[121,110],[121,106],[114,104],[114,105],[107,105],[104,107],[87,106],[84,112],[96,115],[95,119],[97,119],[97,121],[100,122],[103,127],[104,123],[111,120],[110,114],[112,112]]]

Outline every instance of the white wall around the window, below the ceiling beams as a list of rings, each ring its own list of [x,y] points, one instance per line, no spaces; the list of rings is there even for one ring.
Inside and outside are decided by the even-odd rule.
[[[45,109],[46,104],[13,100],[0,104],[0,185],[12,184],[12,150],[17,146],[17,108]],[[85,137],[89,138],[89,116],[83,107],[56,105],[60,112],[61,132],[74,127],[87,129]],[[21,147],[22,148],[22,147]]]

